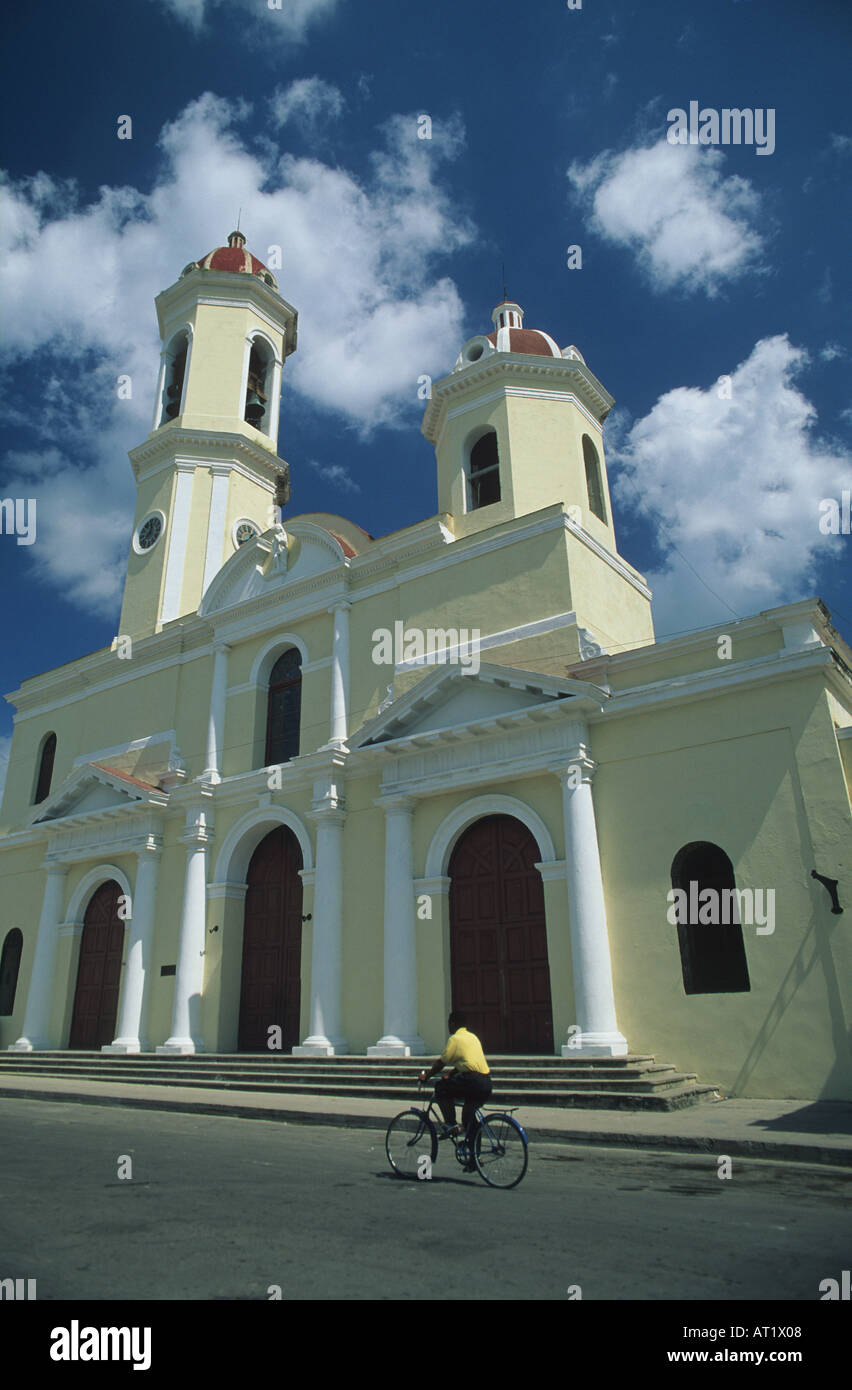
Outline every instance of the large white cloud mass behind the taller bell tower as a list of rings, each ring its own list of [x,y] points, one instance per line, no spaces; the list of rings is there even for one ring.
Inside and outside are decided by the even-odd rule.
[[[270,246],[284,247],[275,274],[300,313],[289,391],[361,432],[414,421],[417,378],[446,371],[466,336],[456,286],[432,277],[438,256],[473,238],[441,185],[460,128],[436,121],[434,139],[418,140],[416,114],[396,117],[370,174],[356,177],[278,149],[270,157],[265,135],[257,154],[239,133],[247,114],[210,93],[188,106],[161,133],[150,192],[101,188],[86,204],[46,174],[3,190],[0,360],[28,385],[4,392],[4,416],[32,436],[8,459],[4,495],[39,502],[39,541],[19,548],[21,563],[99,616],[115,613],[128,555],[126,450],[150,430],[153,299],[222,245],[238,207],[250,250],[268,260]],[[33,360],[44,382],[35,410]],[[120,374],[131,400],[118,400]]]

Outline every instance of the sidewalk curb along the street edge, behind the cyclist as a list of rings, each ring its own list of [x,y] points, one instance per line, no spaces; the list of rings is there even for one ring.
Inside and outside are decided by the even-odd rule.
[[[293,1111],[261,1108],[257,1105],[224,1104],[218,1101],[170,1101],[163,1097],[128,1095],[71,1095],[67,1091],[43,1088],[4,1091],[0,1086],[0,1099],[60,1101],[72,1105],[117,1105],[132,1109],[165,1111],[181,1115],[214,1115],[232,1119],[272,1120],[277,1123],[316,1125],[328,1129],[371,1129],[384,1133],[388,1127],[386,1115],[346,1115],[345,1112],[322,1113],[320,1111]],[[532,1106],[530,1106],[532,1109]],[[712,1154],[731,1158],[751,1158],[770,1162],[808,1163],[817,1166],[852,1169],[852,1145],[849,1148],[824,1148],[817,1144],[792,1144],[788,1141],[767,1141],[759,1138],[732,1138],[720,1134],[717,1138],[702,1134],[638,1134],[617,1130],[559,1130],[524,1126],[530,1138],[545,1144],[568,1144],[600,1148],[662,1150],[681,1154]]]

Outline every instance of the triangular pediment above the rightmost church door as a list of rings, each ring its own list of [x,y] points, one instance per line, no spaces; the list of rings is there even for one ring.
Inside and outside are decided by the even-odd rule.
[[[485,663],[475,674],[461,666],[441,666],[364,724],[349,746],[367,748],[481,720],[523,716],[525,710],[560,702],[592,701],[602,708],[607,699],[607,691],[588,681]]]

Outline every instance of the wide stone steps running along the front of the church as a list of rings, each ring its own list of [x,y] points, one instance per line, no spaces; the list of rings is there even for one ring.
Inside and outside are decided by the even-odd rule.
[[[111,1056],[101,1052],[0,1052],[3,1079],[61,1077],[190,1086],[257,1095],[328,1095],[338,1099],[399,1101],[417,1095],[416,1073],[432,1058],[329,1056],[221,1052],[199,1056]],[[652,1056],[492,1056],[492,1104],[549,1105],[606,1111],[677,1111],[720,1099],[716,1086]]]

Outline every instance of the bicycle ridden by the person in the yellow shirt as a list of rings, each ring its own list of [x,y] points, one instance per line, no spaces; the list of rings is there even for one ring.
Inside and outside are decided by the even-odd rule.
[[[517,1105],[510,1105],[505,1111],[477,1109],[475,1112],[473,1161],[480,1177],[489,1187],[517,1187],[527,1172],[530,1141],[521,1125],[510,1113],[517,1108]],[[439,1140],[432,1109],[436,1109],[434,1094],[425,1111],[411,1105],[410,1109],[395,1115],[388,1125],[385,1152],[391,1168],[400,1177],[423,1179],[431,1176],[432,1166],[438,1159]],[[466,1166],[468,1151],[464,1134],[456,1137],[449,1133],[443,1119],[439,1125],[441,1138],[453,1141],[456,1159]]]

